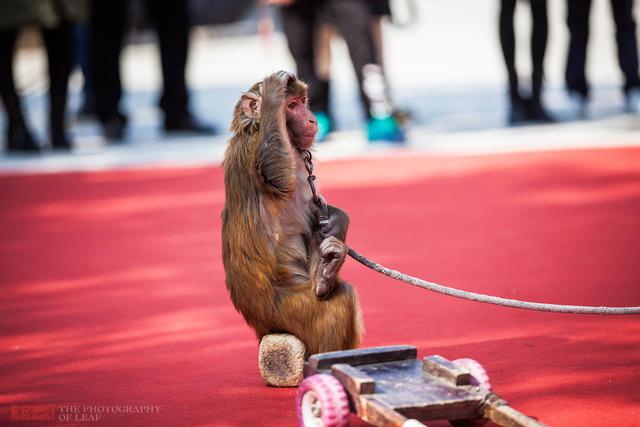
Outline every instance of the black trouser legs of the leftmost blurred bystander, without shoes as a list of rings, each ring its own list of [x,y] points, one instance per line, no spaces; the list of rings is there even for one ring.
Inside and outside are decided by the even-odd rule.
[[[18,32],[18,29],[0,31],[0,96],[9,132],[26,128],[13,78],[13,53]],[[53,29],[43,29],[42,38],[49,68],[49,127],[55,141],[64,133],[67,84],[73,59],[71,24],[65,22]]]

